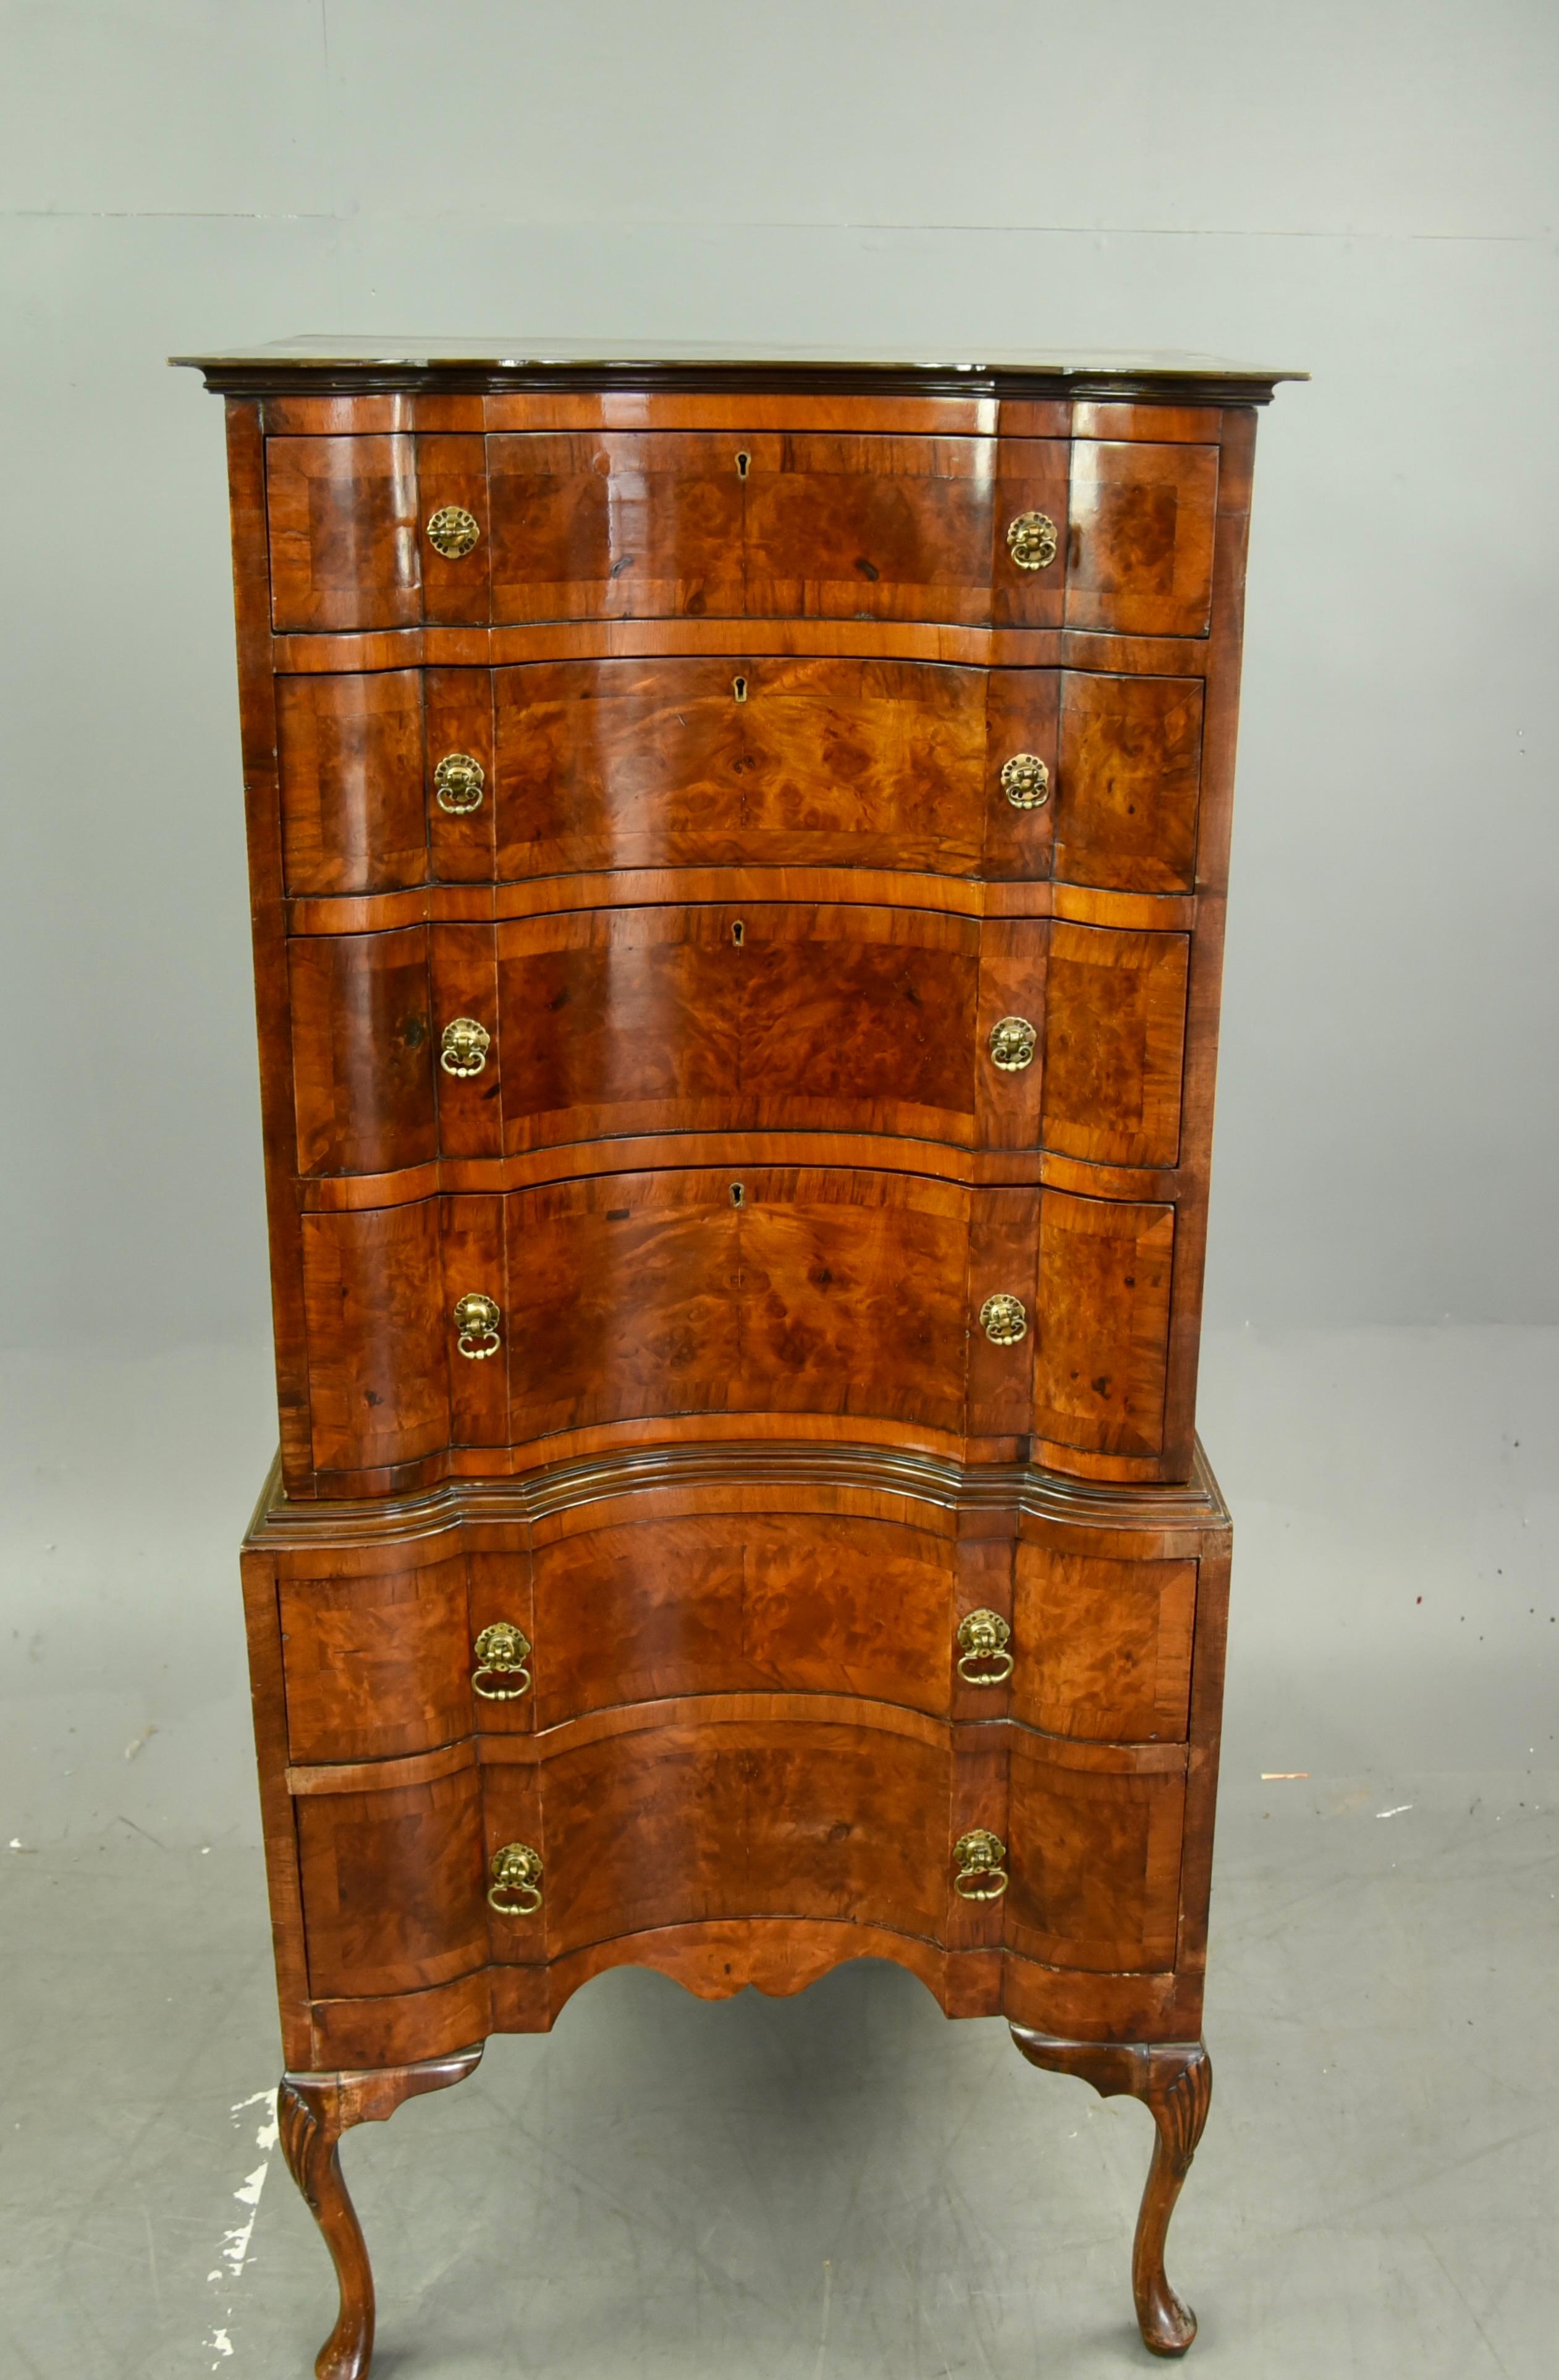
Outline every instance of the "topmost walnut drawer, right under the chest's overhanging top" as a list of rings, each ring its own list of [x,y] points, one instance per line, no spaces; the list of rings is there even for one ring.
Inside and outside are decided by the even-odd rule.
[[[1066,621],[1204,635],[1216,481],[1209,445],[1062,438],[271,438],[271,624]]]

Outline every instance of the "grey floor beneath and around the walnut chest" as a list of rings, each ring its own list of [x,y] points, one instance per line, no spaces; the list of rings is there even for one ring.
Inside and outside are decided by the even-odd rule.
[[[1554,2366],[1557,1338],[1211,1349],[1242,1533],[1219,2085],[1171,2237],[1209,2375]],[[264,1371],[12,1385],[0,2375],[305,2380],[331,2290],[271,2132],[231,1585]],[[1147,2142],[1142,2109],[1031,2073],[895,1968],[719,2006],[614,1973],[348,2144],[376,2373],[1145,2370]]]

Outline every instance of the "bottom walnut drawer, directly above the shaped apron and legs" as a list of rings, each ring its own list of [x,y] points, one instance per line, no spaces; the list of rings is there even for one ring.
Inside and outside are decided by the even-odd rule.
[[[481,1749],[502,1756],[486,1761],[469,1742],[393,1761],[383,1783],[307,1773],[295,1816],[312,1994],[412,1992],[488,1961],[543,1966],[652,1928],[774,1916],[1083,1971],[1173,1966],[1183,1747],[721,1699],[740,1709],[602,1711],[490,1740]],[[976,1840],[959,1866],[973,1830],[997,1840],[1000,1864]],[[507,1890],[493,1866],[505,1849],[533,1854],[509,1864]]]

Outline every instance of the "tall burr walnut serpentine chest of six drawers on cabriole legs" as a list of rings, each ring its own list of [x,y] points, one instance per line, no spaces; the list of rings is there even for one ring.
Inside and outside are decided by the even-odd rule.
[[[1254,407],[1202,359],[200,357],[281,1457],[288,2163],[624,1961],[1209,2097],[1195,1440]]]

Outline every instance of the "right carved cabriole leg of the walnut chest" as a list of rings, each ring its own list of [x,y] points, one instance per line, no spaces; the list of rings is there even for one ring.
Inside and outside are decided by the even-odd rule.
[[[1138,2301],[1142,2344],[1154,2356],[1183,2356],[1197,2335],[1197,2318],[1164,2278],[1164,2235],[1181,2197],[1181,2182],[1197,2154],[1211,2102],[1211,2059],[1202,2042],[1059,2042],[1047,2033],[1014,2025],[1012,2037],[1031,2066],[1083,2075],[1100,2099],[1131,2092],[1152,2109],[1157,2140],[1131,2251],[1131,2290]]]

